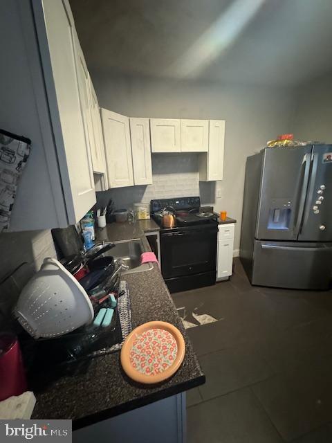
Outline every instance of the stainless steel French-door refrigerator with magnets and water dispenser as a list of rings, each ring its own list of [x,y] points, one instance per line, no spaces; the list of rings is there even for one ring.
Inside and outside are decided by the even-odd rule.
[[[329,288],[332,145],[271,147],[248,157],[240,257],[252,284]]]

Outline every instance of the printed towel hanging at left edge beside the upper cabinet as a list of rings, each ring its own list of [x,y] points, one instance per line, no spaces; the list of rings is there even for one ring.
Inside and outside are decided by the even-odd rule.
[[[9,228],[19,176],[28,160],[31,141],[0,129],[0,233]]]

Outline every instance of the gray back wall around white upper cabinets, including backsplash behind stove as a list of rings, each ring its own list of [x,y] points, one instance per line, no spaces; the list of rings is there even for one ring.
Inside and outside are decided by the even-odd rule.
[[[200,188],[204,204],[225,209],[238,220],[234,249],[239,249],[243,180],[246,157],[264,147],[266,141],[291,129],[293,94],[287,89],[231,87],[218,83],[174,82],[143,78],[112,78],[92,72],[101,107],[131,117],[215,118],[226,120],[224,179],[199,185],[195,154],[186,157],[190,167],[174,161],[174,156],[153,154],[154,186],[147,190],[126,188],[107,192],[118,206],[141,199],[160,197],[158,183],[165,183],[174,168],[177,175],[169,195],[195,195]],[[178,154],[181,159],[183,154]],[[185,154],[187,155],[187,154]],[[157,157],[158,156],[158,157]],[[184,158],[184,157],[183,157]],[[161,163],[160,163],[161,159]],[[162,170],[157,170],[162,165]],[[179,177],[183,171],[183,177]],[[188,168],[190,172],[188,172]],[[194,169],[195,168],[195,169]],[[193,173],[194,172],[194,173]],[[188,176],[187,174],[190,174]],[[187,186],[192,180],[192,188]],[[185,190],[182,186],[185,183]],[[216,198],[219,189],[221,197]],[[166,189],[168,191],[168,189]],[[98,199],[103,198],[99,193]],[[104,197],[106,199],[106,196]]]

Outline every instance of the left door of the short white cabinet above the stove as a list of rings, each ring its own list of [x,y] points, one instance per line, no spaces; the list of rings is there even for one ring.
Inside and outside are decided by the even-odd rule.
[[[181,152],[180,120],[151,118],[151,151]]]

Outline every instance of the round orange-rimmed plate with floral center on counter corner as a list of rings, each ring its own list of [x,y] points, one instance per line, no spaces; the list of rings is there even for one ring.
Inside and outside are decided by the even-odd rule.
[[[151,384],[171,377],[184,357],[185,341],[181,332],[170,323],[150,321],[127,336],[120,361],[131,379]]]

